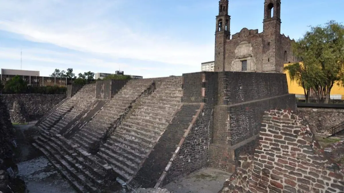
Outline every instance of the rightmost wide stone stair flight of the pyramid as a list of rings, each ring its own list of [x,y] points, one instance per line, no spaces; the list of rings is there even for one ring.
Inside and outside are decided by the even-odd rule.
[[[135,110],[116,127],[96,154],[129,183],[181,106],[182,77],[157,81],[156,89],[140,98]]]

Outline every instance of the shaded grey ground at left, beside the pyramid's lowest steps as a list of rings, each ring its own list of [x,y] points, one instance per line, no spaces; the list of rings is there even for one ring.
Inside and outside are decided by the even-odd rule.
[[[28,137],[28,125],[15,125],[17,134],[17,159],[19,175],[26,183],[30,193],[75,193],[72,186],[57,173],[49,161],[33,146]]]

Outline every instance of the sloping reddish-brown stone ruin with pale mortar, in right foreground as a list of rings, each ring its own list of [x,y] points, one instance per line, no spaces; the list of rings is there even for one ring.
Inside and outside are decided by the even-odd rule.
[[[290,110],[265,112],[259,143],[238,166],[219,193],[344,192],[344,169]]]

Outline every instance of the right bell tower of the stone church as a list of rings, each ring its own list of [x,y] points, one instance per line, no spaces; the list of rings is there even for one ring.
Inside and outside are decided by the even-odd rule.
[[[265,0],[263,33],[265,45],[263,50],[263,72],[280,72],[280,36],[281,36],[281,0]]]

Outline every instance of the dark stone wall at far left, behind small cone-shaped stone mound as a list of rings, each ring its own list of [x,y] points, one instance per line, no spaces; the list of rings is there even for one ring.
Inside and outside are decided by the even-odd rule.
[[[26,114],[26,121],[39,120],[46,112],[66,98],[65,94],[2,94],[1,96],[9,112],[13,109],[13,103],[17,101],[22,114]],[[15,122],[18,119],[11,117],[11,120]]]

